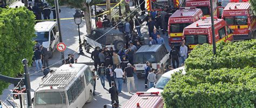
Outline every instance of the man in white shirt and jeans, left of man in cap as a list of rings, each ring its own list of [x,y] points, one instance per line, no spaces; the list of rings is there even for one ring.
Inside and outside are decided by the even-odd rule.
[[[114,69],[114,72],[116,73],[116,79],[117,79],[117,83],[118,83],[118,92],[122,93],[122,84],[123,84],[124,72],[120,68],[120,64],[117,64],[117,68]]]

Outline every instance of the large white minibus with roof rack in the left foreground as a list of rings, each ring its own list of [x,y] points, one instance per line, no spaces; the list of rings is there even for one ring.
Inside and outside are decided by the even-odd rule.
[[[85,64],[64,64],[49,73],[35,91],[33,106],[76,108],[92,101],[92,72]]]

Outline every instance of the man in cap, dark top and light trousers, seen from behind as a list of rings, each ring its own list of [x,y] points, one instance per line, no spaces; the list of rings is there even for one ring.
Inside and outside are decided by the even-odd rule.
[[[127,67],[124,69],[124,76],[127,77],[127,89],[129,93],[131,93],[130,83],[132,84],[133,90],[136,91],[133,77],[134,70],[136,70],[136,68],[134,68],[131,63],[128,63]]]

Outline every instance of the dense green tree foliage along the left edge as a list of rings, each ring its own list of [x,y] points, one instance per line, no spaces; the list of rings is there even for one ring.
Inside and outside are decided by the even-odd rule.
[[[35,37],[35,16],[25,7],[0,8],[0,74],[15,77],[22,73],[22,59],[31,63]],[[0,94],[8,83],[0,81]]]

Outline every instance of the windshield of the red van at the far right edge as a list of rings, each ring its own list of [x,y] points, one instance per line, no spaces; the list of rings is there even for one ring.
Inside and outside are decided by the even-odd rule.
[[[225,17],[227,25],[247,25],[247,16]]]

